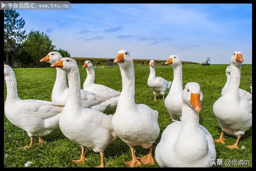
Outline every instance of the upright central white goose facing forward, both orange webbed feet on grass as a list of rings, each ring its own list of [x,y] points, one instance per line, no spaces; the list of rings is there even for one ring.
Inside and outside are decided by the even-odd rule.
[[[136,104],[134,101],[134,66],[129,52],[120,50],[114,62],[120,66],[122,92],[112,125],[118,137],[130,146],[132,161],[128,161],[126,164],[130,167],[141,164],[134,154],[134,146],[137,145],[145,149],[150,148],[148,155],[140,158],[142,163],[154,163],[152,144],[160,133],[157,120],[158,111],[144,104]]]

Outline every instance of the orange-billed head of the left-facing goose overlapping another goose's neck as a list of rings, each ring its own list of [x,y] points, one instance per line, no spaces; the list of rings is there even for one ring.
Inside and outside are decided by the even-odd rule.
[[[78,68],[76,61],[72,58],[62,58],[52,64],[51,67],[60,68],[65,72],[70,72],[72,69]]]

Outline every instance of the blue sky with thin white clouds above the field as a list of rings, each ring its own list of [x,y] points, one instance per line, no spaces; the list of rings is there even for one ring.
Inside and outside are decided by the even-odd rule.
[[[70,10],[18,10],[25,29],[45,32],[72,57],[228,64],[240,51],[252,64],[251,4],[72,4]]]

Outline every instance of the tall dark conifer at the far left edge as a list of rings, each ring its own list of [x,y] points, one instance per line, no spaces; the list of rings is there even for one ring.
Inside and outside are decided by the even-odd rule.
[[[20,43],[26,38],[26,30],[21,29],[25,21],[18,17],[20,14],[16,10],[4,10],[4,51],[6,63],[9,64],[9,57],[15,53]]]

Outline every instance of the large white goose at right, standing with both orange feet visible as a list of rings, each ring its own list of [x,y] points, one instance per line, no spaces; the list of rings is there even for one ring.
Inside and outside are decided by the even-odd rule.
[[[238,141],[244,132],[252,126],[252,104],[239,96],[241,65],[244,61],[241,52],[234,52],[230,59],[230,82],[226,92],[213,105],[213,113],[220,124],[222,133],[214,141],[224,144],[224,132],[237,136],[231,149],[238,149]]]

